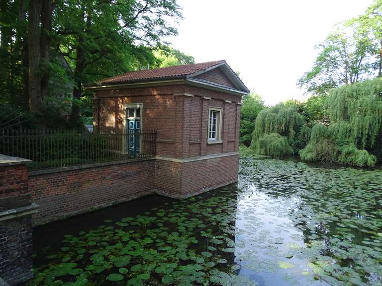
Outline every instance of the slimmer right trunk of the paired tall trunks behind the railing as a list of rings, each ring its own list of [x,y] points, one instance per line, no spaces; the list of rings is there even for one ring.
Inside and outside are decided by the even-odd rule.
[[[55,2],[51,0],[42,1],[41,10],[41,98],[48,95],[49,82],[49,62],[50,62],[50,43],[52,32],[52,13],[55,7]]]

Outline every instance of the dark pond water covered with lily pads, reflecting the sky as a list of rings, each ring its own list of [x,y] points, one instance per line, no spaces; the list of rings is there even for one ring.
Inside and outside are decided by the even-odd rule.
[[[27,285],[382,285],[382,169],[240,160],[238,184],[34,231]]]

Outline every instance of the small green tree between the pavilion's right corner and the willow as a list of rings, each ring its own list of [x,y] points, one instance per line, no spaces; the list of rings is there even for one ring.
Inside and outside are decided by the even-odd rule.
[[[242,103],[239,141],[249,146],[255,128],[256,117],[265,106],[261,96],[253,91],[249,95],[243,96]]]

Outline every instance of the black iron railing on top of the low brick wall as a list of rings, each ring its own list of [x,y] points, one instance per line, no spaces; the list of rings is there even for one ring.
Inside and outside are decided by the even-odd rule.
[[[151,157],[156,154],[156,132],[0,130],[0,154],[32,160],[30,170]]]

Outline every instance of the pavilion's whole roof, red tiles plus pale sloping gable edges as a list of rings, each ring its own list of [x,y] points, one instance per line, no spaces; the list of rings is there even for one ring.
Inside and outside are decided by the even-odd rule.
[[[249,89],[240,80],[237,74],[227,65],[225,60],[213,61],[199,64],[189,64],[182,66],[172,66],[166,68],[142,70],[142,71],[129,71],[120,75],[108,77],[102,79],[95,84],[89,86],[96,87],[105,84],[121,84],[121,83],[133,83],[140,81],[154,81],[154,80],[166,80],[166,79],[187,79],[192,78],[193,81],[203,81],[201,79],[193,78],[201,73],[211,71],[219,68],[224,74],[232,81],[237,90],[244,93],[248,93]]]

